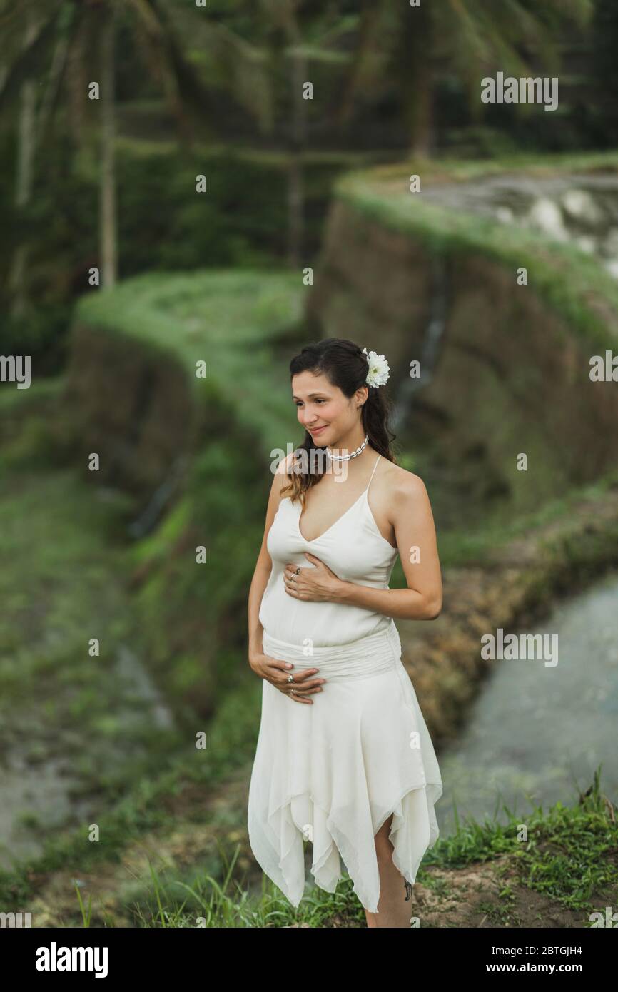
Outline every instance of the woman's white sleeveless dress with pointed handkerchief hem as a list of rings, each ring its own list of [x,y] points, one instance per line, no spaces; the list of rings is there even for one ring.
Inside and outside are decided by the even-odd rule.
[[[326,680],[322,692],[309,696],[312,705],[266,680],[262,687],[249,841],[263,871],[295,907],[305,891],[305,840],[312,843],[315,884],[334,892],[340,855],[361,905],[377,913],[374,836],[384,821],[394,813],[393,861],[411,885],[438,837],[433,806],[442,783],[395,622],[362,607],[296,599],[285,589],[288,562],[312,567],[306,551],[339,578],[388,588],[397,549],[380,534],[368,492],[369,485],[312,541],[301,534],[300,500],[286,497],[267,539],[273,568],[259,614],[264,653],[292,662],[293,675],[316,668],[315,678]]]

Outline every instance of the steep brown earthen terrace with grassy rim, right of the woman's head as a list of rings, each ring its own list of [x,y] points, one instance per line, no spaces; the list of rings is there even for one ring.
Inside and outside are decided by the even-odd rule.
[[[615,154],[402,164],[348,176],[335,191],[310,318],[324,336],[353,328],[388,355],[400,437],[428,452],[424,475],[438,500],[448,494],[438,504],[447,524],[472,506],[476,523],[507,521],[618,464],[616,382],[590,379],[591,357],[618,349],[618,283],[576,240],[505,220],[498,198],[498,180],[511,200],[518,187],[534,200],[537,188],[548,209],[553,176],[562,196],[571,192],[567,205],[582,200],[586,178],[590,188],[590,177],[603,180],[618,234]]]

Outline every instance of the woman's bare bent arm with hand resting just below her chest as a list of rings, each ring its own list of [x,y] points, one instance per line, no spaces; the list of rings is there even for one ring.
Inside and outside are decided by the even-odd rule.
[[[293,578],[287,568],[286,591],[299,599],[361,606],[389,617],[434,620],[442,608],[442,580],[430,498],[418,475],[409,475],[392,490],[391,521],[408,583],[407,589],[374,589],[338,578],[320,558]]]

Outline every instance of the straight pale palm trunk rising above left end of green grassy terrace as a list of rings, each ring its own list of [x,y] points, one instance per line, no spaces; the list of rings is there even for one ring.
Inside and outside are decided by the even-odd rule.
[[[100,254],[101,285],[115,286],[118,277],[116,228],[115,97],[113,5],[108,8],[101,33],[101,186]]]

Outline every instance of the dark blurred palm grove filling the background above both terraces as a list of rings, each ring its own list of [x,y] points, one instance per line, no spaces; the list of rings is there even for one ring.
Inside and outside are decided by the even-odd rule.
[[[333,178],[356,164],[614,147],[611,0],[427,4],[414,17],[398,0],[2,8],[3,335],[28,342],[41,371],[62,367],[92,265],[112,282],[307,264]],[[480,104],[480,76],[540,67],[559,67],[559,113]],[[90,99],[104,71],[113,91]],[[198,208],[196,174],[210,181]]]

